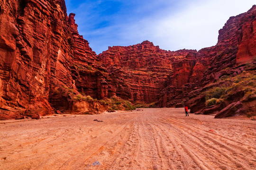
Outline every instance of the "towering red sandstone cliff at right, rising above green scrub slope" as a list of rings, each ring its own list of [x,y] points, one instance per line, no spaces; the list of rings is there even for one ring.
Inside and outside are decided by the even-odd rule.
[[[255,5],[246,13],[240,14],[236,17],[230,17],[225,26],[219,30],[217,45],[199,51],[203,54],[203,56],[209,59],[210,65],[202,75],[201,87],[203,88],[196,89],[191,93],[188,93],[190,100],[188,100],[187,104],[191,106],[192,112],[201,112],[207,114],[208,112],[218,113],[218,111],[221,110],[220,115],[218,113],[218,117],[220,118],[222,117],[222,113],[224,113],[223,110],[225,110],[226,106],[228,107],[228,105],[230,106],[232,103],[235,105],[235,103],[239,100],[243,101],[245,93],[241,87],[237,87],[237,91],[232,92],[234,93],[233,97],[225,100],[224,105],[222,103],[221,107],[219,107],[220,105],[218,106],[219,108],[213,107],[204,109],[206,106],[202,104],[205,103],[205,94],[203,94],[204,91],[207,91],[207,89],[214,86],[229,86],[227,85],[227,82],[225,82],[225,78],[236,77],[247,70],[252,70],[252,73],[255,74],[255,17]],[[243,78],[246,79],[247,76],[244,76]],[[224,81],[222,81],[222,79]],[[253,89],[251,89],[250,93],[254,93]],[[255,99],[252,97],[251,100]],[[239,102],[240,105],[241,103],[242,102]],[[244,104],[247,105],[246,102]],[[241,107],[243,110],[240,110],[240,113],[244,113],[244,108],[246,107]],[[248,108],[249,109],[247,111],[252,110],[250,108],[253,108],[253,105],[249,104]],[[234,110],[233,115],[229,114],[229,116],[238,115],[238,112],[239,111]]]

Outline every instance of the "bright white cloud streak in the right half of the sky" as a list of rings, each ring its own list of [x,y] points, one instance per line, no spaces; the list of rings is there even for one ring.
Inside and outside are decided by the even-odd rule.
[[[146,18],[124,26],[123,39],[149,40],[165,50],[196,49],[215,45],[218,31],[231,16],[246,12],[254,0],[210,0],[191,4],[175,14]],[[118,45],[118,44],[117,44]]]

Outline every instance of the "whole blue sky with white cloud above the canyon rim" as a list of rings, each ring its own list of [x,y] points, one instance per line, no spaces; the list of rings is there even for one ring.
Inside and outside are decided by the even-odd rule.
[[[78,32],[97,54],[108,46],[145,40],[161,49],[200,50],[217,43],[231,16],[246,12],[255,0],[65,0],[75,13]]]

